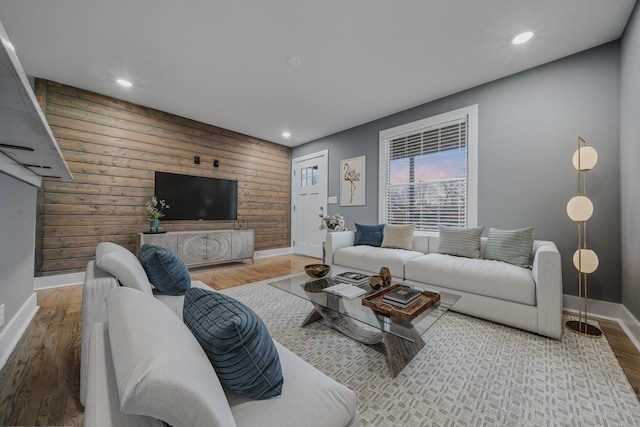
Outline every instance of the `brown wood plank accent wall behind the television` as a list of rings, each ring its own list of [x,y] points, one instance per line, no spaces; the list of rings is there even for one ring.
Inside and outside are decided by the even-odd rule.
[[[289,147],[46,80],[36,80],[36,94],[74,176],[44,180],[36,275],[83,270],[101,241],[135,252],[155,171],[237,180],[238,220],[255,230],[256,250],[290,246]],[[235,226],[161,223],[167,231]]]

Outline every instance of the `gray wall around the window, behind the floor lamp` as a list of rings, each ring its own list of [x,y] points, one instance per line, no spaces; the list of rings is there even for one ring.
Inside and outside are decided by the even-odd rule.
[[[577,193],[571,158],[581,135],[599,153],[587,188],[595,209],[588,240],[600,258],[589,296],[621,302],[619,94],[620,48],[612,42],[296,147],[293,157],[328,148],[329,195],[338,195],[339,161],[366,155],[367,205],[328,210],[344,215],[349,228],[376,223],[378,132],[478,104],[478,223],[533,225],[536,238],[558,245],[564,293],[576,295],[577,227],[566,204]]]

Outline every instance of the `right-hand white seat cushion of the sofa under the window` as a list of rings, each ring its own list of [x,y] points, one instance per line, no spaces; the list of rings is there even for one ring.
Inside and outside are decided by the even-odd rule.
[[[501,261],[427,254],[405,266],[407,280],[492,298],[536,305],[536,285],[528,268]]]

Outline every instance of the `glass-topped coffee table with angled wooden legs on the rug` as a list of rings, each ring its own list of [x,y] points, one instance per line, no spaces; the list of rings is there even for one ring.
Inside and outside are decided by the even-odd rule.
[[[344,271],[332,268],[331,274]],[[384,316],[362,305],[362,298],[367,294],[348,299],[324,292],[323,288],[335,284],[331,278],[312,279],[301,275],[269,284],[313,304],[313,310],[301,326],[325,319],[334,329],[363,344],[376,345],[383,342],[392,377],[397,376],[424,347],[422,335],[460,299],[459,295],[440,292],[440,301],[416,318],[405,320],[396,316]]]

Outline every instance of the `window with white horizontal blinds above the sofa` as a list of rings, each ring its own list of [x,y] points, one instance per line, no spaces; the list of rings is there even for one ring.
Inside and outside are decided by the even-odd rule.
[[[442,117],[447,120],[409,130],[399,127],[395,134],[385,131],[384,139],[381,132],[385,222],[416,224],[420,231],[469,225],[469,118]]]

